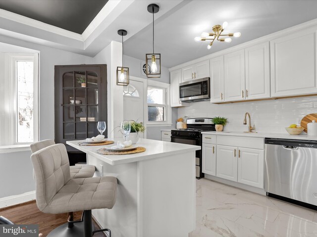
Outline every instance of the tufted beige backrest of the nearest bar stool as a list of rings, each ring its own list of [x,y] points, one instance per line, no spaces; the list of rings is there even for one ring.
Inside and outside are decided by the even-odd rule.
[[[36,204],[42,211],[70,180],[69,161],[64,144],[54,144],[32,154]]]

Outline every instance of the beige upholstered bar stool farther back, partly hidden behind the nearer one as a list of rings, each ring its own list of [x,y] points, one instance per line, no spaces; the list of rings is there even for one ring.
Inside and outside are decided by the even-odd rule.
[[[45,147],[54,145],[55,142],[51,139],[34,142],[30,145],[31,152],[35,153]],[[90,164],[75,164],[69,166],[70,178],[90,178],[94,176],[96,167]]]

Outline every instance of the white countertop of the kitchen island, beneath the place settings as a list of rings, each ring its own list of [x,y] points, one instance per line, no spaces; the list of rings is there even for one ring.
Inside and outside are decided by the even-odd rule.
[[[163,142],[158,140],[144,139],[140,138],[136,145],[140,147],[145,147],[147,150],[142,153],[131,154],[131,155],[101,155],[97,153],[100,148],[111,147],[116,145],[118,139],[108,139],[114,141],[114,144],[106,146],[79,146],[78,143],[81,140],[67,141],[66,144],[85,152],[86,154],[92,155],[105,161],[108,164],[124,164],[130,162],[136,162],[140,160],[153,159],[159,157],[165,157],[174,154],[188,153],[192,151],[201,150],[200,146],[186,145],[180,143]],[[122,139],[121,139],[122,140]],[[168,165],[168,164],[166,164]]]

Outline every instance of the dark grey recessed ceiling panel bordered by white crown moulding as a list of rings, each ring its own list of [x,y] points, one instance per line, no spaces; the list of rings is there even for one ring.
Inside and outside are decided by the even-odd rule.
[[[0,0],[0,8],[82,34],[108,0]]]

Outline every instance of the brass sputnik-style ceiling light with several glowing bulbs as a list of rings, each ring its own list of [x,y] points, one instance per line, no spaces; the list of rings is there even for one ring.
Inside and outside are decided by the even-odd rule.
[[[212,27],[212,31],[211,33],[208,32],[203,32],[202,33],[202,37],[195,37],[195,41],[205,41],[205,40],[211,40],[210,44],[208,44],[207,48],[211,49],[211,45],[213,43],[214,40],[218,40],[220,42],[231,42],[231,38],[221,38],[219,39],[219,37],[221,36],[228,36],[228,37],[240,37],[241,33],[240,32],[236,32],[236,33],[228,33],[226,35],[223,35],[222,32],[223,30],[228,26],[228,22],[223,22],[222,26],[220,25],[215,25]],[[213,37],[213,38],[212,38]]]

